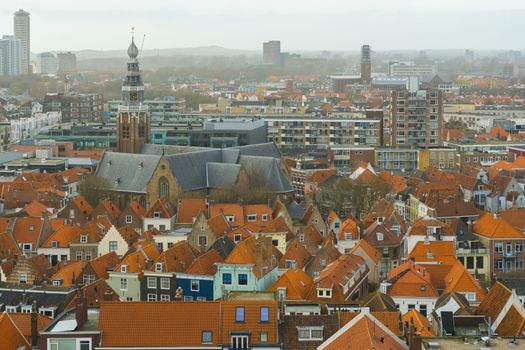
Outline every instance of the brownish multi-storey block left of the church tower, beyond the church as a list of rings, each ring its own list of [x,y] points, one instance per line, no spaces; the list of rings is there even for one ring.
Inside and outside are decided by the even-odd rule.
[[[62,112],[62,122],[98,123],[103,121],[101,94],[47,94],[44,112]]]

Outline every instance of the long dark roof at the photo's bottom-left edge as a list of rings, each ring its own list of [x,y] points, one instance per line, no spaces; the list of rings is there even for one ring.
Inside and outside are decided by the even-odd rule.
[[[55,291],[52,293],[44,290],[31,291],[23,289],[0,289],[0,305],[16,306],[22,303],[25,299],[25,305],[31,305],[36,301],[37,308],[39,307],[56,307],[55,316],[60,314],[64,307],[70,302],[75,295],[75,289],[67,291]]]

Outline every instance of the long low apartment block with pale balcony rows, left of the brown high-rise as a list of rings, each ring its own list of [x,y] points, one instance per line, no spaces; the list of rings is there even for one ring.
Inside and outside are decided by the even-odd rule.
[[[380,146],[382,119],[354,117],[265,117],[268,142],[283,150],[315,149],[319,147]]]

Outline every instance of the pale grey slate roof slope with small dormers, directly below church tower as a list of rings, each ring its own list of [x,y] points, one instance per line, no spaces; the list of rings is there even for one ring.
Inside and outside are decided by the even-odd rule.
[[[113,191],[146,193],[159,160],[157,155],[105,152],[96,174],[108,180]]]

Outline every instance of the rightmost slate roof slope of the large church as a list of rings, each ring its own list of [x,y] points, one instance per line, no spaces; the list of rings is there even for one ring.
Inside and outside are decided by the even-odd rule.
[[[265,184],[274,192],[288,193],[295,191],[281,169],[279,159],[241,155],[239,162],[246,170],[248,176],[257,176],[262,181],[265,181]]]

